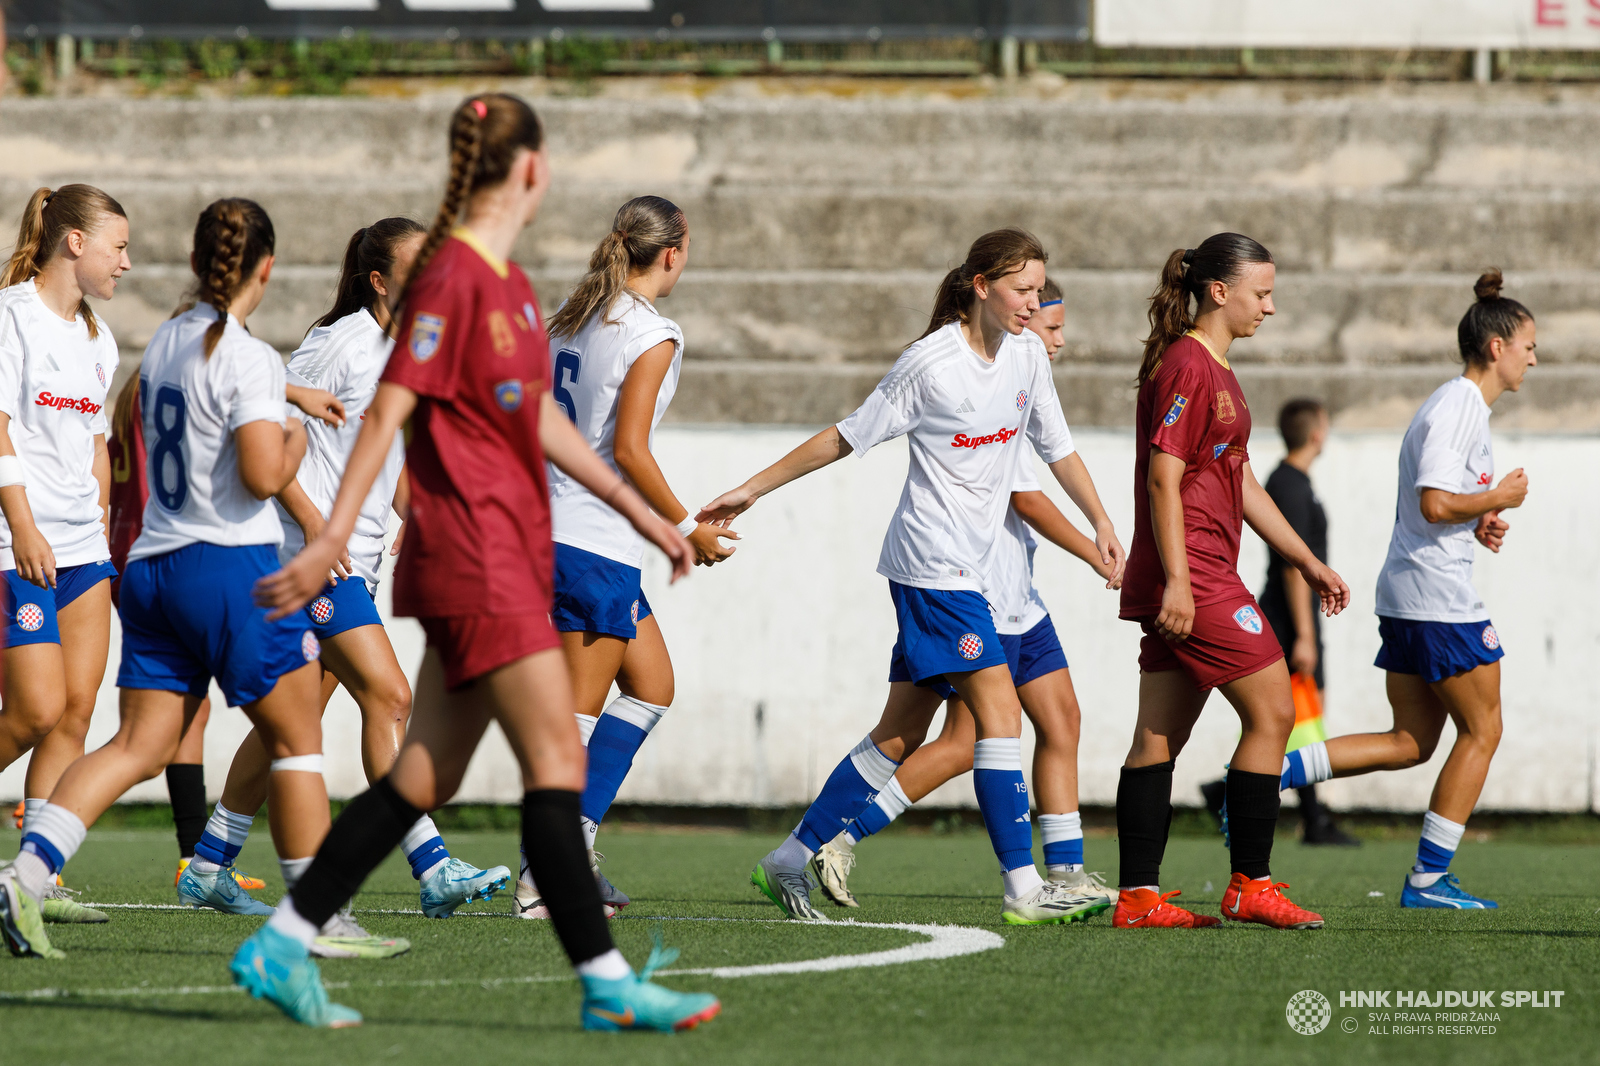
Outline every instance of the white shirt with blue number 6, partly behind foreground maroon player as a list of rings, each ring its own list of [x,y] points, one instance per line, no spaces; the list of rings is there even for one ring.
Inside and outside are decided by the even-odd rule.
[[[634,293],[618,298],[611,317],[614,322],[606,322],[603,314],[592,315],[573,336],[550,338],[554,352],[550,392],[595,455],[616,471],[616,402],[622,379],[640,355],[662,341],[672,341],[672,367],[661,381],[656,410],[650,419],[650,447],[654,448],[656,426],[678,391],[678,373],[683,370],[683,330],[672,319],[658,314],[643,296]],[[645,559],[645,538],[634,525],[554,464],[550,466],[550,536],[557,544],[581,547],[629,567],[638,567]]]

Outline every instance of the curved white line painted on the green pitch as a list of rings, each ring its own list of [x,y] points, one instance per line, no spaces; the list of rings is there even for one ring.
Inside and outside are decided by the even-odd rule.
[[[106,904],[96,903],[90,906],[114,906],[123,909],[146,909],[146,911],[187,911],[190,908],[178,904]],[[421,914],[421,911],[366,911],[366,914]],[[470,914],[470,912],[469,912]],[[483,917],[491,917],[493,912],[478,911],[477,914]],[[648,922],[738,922],[750,925],[771,925],[776,919],[723,919],[723,917],[638,917],[634,920]],[[754,967],[707,967],[693,970],[661,970],[661,976],[677,976],[677,975],[701,975],[715,978],[742,978],[742,976],[771,976],[779,973],[832,973],[835,970],[859,970],[864,967],[893,967],[907,962],[931,962],[934,959],[955,959],[958,956],[971,956],[981,951],[994,951],[995,948],[1003,948],[1005,940],[998,933],[992,933],[986,928],[971,928],[968,925],[917,925],[907,922],[827,922],[826,925],[818,922],[822,928],[890,928],[901,930],[907,933],[917,933],[926,936],[928,940],[920,944],[907,944],[906,948],[893,948],[890,951],[870,951],[859,956],[826,956],[822,959],[805,959],[802,962],[768,962]],[[446,988],[453,984],[482,988],[485,991],[517,986],[517,984],[544,984],[554,981],[571,981],[571,975],[547,976],[509,976],[509,978],[435,978],[424,981],[330,981],[328,989],[349,989],[349,988]],[[165,997],[165,996],[227,996],[235,994],[243,989],[234,984],[184,984],[176,988],[150,988],[147,984],[134,984],[128,988],[94,988],[94,989],[67,989],[67,988],[35,988],[24,992],[0,992],[0,1002],[26,1002],[32,999],[101,999],[101,997]]]

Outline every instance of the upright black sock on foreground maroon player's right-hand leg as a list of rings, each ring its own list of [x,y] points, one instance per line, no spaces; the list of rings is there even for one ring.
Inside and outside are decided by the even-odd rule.
[[[522,850],[539,885],[550,925],[573,965],[611,951],[600,885],[589,871],[578,792],[534,789],[522,797]],[[296,903],[296,906],[299,906]]]

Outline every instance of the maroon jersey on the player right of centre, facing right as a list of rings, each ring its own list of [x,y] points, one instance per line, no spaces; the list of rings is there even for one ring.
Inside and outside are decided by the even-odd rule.
[[[1192,333],[1181,338],[1139,386],[1133,467],[1133,547],[1122,583],[1122,616],[1162,610],[1166,571],[1150,527],[1150,448],[1184,461],[1184,544],[1195,605],[1245,591],[1238,579],[1238,535],[1245,520],[1245,463],[1250,408],[1238,378]]]

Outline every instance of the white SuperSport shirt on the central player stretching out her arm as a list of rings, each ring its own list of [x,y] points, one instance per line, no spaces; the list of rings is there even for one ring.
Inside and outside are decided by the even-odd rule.
[[[954,322],[901,352],[838,432],[856,455],[902,434],[910,439],[910,469],[878,573],[990,599],[998,595],[992,575],[1011,488],[1027,459],[1022,437],[1045,463],[1074,450],[1038,335],[1006,335],[987,362]]]

